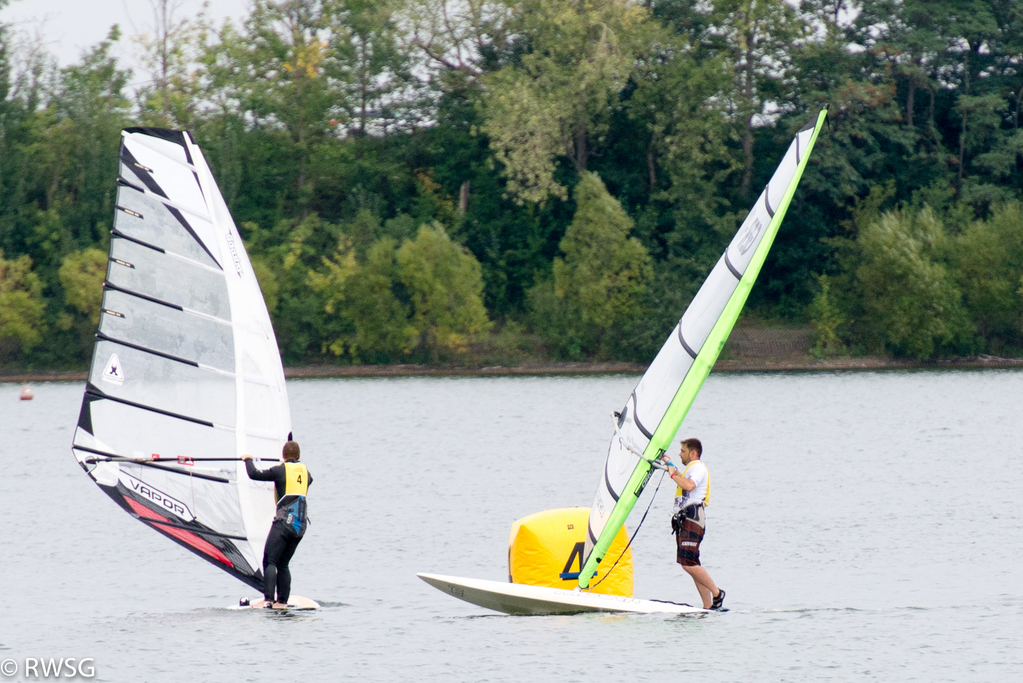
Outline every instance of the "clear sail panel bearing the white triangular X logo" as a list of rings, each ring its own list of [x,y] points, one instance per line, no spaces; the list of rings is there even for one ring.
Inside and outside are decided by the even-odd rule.
[[[116,358],[115,358],[116,356]],[[113,342],[96,342],[89,381],[107,396],[233,426],[234,377]],[[112,366],[117,365],[116,370]]]

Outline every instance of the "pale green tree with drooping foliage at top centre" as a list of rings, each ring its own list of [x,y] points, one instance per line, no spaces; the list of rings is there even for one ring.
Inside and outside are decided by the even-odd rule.
[[[626,34],[648,16],[638,5],[614,0],[524,4],[529,51],[485,78],[483,126],[517,201],[567,198],[557,160],[586,170],[634,66]]]

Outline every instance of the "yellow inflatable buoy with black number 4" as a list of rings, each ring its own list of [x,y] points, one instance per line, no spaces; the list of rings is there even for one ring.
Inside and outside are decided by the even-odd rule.
[[[511,525],[508,539],[508,581],[529,586],[548,586],[572,590],[578,585],[585,540],[588,507],[563,507],[544,510]],[[608,554],[590,582],[593,593],[632,597],[632,549],[622,556],[606,580],[629,536],[623,527],[608,549]]]

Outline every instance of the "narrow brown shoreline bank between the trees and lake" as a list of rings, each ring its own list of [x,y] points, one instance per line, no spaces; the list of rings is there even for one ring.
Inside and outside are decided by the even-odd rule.
[[[524,363],[522,365],[430,366],[430,365],[301,365],[284,368],[287,379],[317,377],[457,377],[560,374],[641,374],[642,363]],[[1023,358],[973,356],[934,361],[900,360],[883,357],[788,359],[736,358],[719,360],[714,372],[836,372],[849,370],[975,370],[1023,368]],[[86,370],[35,370],[0,372],[0,383],[78,381]]]

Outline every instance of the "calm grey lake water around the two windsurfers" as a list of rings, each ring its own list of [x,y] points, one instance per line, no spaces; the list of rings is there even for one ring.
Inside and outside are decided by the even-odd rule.
[[[730,611],[508,617],[415,577],[506,580],[511,522],[590,504],[634,375],[288,383],[315,475],[283,616],[121,511],[70,444],[82,385],[0,384],[0,659],[102,681],[995,681],[1023,671],[1014,371],[715,374],[680,436],[713,477]],[[657,479],[629,522],[634,530]],[[663,486],[637,597],[697,602]],[[16,675],[3,680],[25,679]]]

